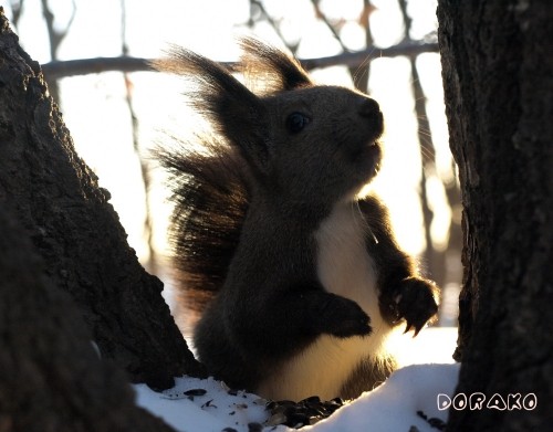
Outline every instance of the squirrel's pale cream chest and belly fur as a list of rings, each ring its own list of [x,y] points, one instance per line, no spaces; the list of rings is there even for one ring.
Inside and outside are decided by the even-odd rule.
[[[338,396],[359,362],[378,357],[392,330],[378,308],[377,274],[367,253],[368,226],[356,203],[338,203],[315,232],[317,275],[327,292],[355,301],[371,317],[369,337],[322,335],[258,389],[273,399]]]

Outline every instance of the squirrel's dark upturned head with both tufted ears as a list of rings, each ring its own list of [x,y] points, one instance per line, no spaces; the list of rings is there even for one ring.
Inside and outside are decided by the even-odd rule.
[[[251,171],[252,190],[286,202],[333,203],[376,175],[383,115],[366,95],[315,85],[298,61],[253,39],[241,42],[250,91],[218,63],[175,49],[164,70],[189,74],[200,109]]]

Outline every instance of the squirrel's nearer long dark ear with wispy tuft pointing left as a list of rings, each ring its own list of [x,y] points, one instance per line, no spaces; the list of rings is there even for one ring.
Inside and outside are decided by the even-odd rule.
[[[210,120],[215,130],[239,148],[253,173],[263,175],[269,164],[267,114],[263,102],[221,64],[192,51],[173,46],[167,60],[155,67],[186,75],[196,84],[187,92],[191,105]]]

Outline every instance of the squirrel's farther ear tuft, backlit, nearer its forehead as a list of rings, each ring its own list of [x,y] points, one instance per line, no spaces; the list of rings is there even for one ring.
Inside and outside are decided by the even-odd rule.
[[[285,52],[253,38],[240,40],[243,50],[240,69],[252,87],[264,93],[309,87],[313,82],[300,62]],[[260,85],[255,85],[261,82]]]

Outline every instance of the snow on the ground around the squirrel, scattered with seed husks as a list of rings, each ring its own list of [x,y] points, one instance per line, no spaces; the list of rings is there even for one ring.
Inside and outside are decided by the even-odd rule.
[[[438,431],[431,424],[447,421],[447,411],[438,410],[438,394],[451,397],[459,375],[459,365],[453,365],[451,359],[456,339],[455,328],[425,329],[415,339],[401,336],[396,345],[398,348],[394,348],[404,366],[401,369],[377,389],[344,404],[328,419],[302,430]],[[265,400],[242,391],[229,392],[223,383],[211,378],[177,378],[176,387],[163,393],[154,392],[146,384],[136,384],[135,390],[140,407],[163,418],[177,431],[258,431],[270,418]],[[264,425],[263,429],[290,430],[282,425]]]

